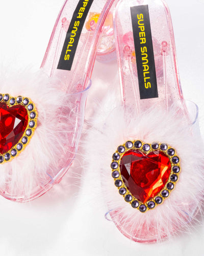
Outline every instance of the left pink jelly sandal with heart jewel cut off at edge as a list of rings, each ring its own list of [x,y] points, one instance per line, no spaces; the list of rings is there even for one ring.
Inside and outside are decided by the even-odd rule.
[[[0,194],[5,198],[33,200],[59,183],[70,167],[82,132],[97,41],[101,34],[113,37],[112,16],[105,22],[111,3],[65,1],[40,72],[1,83]],[[114,44],[102,45],[99,54],[113,51]]]

